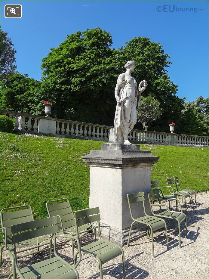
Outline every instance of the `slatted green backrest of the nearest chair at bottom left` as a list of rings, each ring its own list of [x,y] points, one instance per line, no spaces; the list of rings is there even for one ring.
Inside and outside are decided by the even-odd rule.
[[[46,234],[56,233],[58,231],[58,220],[59,217],[54,216],[18,225],[12,225],[12,244],[20,243],[21,241],[25,241],[35,237],[41,237]],[[31,249],[33,249],[33,247],[31,247]]]

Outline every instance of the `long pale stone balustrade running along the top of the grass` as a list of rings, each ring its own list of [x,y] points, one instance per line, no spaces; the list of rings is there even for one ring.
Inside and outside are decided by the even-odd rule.
[[[44,117],[10,110],[1,110],[1,114],[16,117],[14,132],[48,135],[55,137],[91,139],[108,141],[112,126],[91,124],[53,117]],[[21,128],[19,117],[22,117]],[[208,147],[208,137],[197,135],[171,134],[144,130],[132,130],[129,141],[135,144],[168,144],[177,146]]]

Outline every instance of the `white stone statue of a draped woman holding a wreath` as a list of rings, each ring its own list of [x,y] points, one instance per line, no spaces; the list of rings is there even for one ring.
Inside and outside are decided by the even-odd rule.
[[[135,62],[128,61],[125,64],[126,72],[118,76],[115,87],[115,99],[117,106],[115,110],[114,131],[110,132],[109,142],[120,144],[131,144],[128,134],[137,122],[137,110],[140,107],[141,93],[147,87],[147,81],[143,80],[137,88],[137,82],[131,73],[135,69]],[[116,139],[114,140],[114,132]]]

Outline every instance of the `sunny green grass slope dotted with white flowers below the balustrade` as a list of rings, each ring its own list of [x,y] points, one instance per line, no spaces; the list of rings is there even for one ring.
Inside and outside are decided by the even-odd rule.
[[[47,216],[48,200],[67,197],[73,210],[88,207],[89,167],[81,156],[101,142],[1,133],[1,208],[31,204],[35,218]],[[208,188],[208,149],[141,145],[159,156],[152,180],[166,185],[179,176],[184,188]]]

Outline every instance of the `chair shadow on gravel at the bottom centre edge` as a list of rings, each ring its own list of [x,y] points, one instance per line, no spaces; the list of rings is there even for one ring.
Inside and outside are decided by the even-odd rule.
[[[138,268],[136,265],[130,263],[131,260],[135,259],[136,257],[140,256],[143,252],[134,255],[125,261],[125,269],[126,269],[126,278],[146,278],[149,275],[144,269]],[[111,278],[123,278],[123,265],[115,264],[115,265],[108,265],[103,267],[103,275],[109,275]],[[91,276],[92,279],[100,278],[100,272]]]

